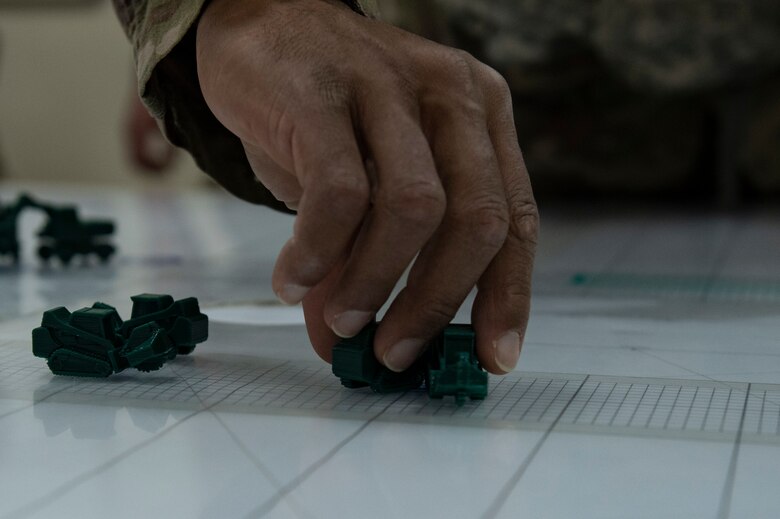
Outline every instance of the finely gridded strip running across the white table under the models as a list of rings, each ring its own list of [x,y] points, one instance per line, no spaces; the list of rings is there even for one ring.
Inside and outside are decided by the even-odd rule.
[[[48,382],[42,382],[46,381]],[[213,407],[254,413],[378,416],[586,433],[780,443],[780,385],[517,372],[492,377],[484,401],[458,408],[424,389],[379,395],[342,388],[327,366],[203,354],[108,379],[51,375],[26,345],[0,347],[0,393],[41,401]],[[34,404],[31,404],[34,405]]]

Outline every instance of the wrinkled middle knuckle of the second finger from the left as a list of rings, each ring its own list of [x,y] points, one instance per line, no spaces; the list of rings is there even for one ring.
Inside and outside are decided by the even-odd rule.
[[[438,184],[415,181],[380,194],[378,204],[398,220],[413,224],[438,223],[444,216],[446,198]]]

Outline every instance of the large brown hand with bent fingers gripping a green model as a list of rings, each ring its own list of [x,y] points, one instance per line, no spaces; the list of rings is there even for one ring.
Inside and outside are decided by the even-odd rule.
[[[298,210],[273,286],[303,301],[323,359],[414,261],[377,330],[377,358],[407,368],[476,285],[479,360],[514,368],[538,217],[497,72],[336,0],[214,0],[197,63],[215,116]]]

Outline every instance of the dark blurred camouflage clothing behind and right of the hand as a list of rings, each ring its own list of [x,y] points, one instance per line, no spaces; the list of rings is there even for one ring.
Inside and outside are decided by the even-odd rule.
[[[379,0],[498,69],[535,190],[780,192],[776,0]]]

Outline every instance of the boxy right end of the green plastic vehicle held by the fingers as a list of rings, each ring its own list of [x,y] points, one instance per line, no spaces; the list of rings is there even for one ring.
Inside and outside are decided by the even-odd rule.
[[[477,361],[474,345],[474,329],[465,324],[451,324],[434,339],[426,378],[431,398],[451,395],[460,406],[466,398],[487,396],[488,376]]]

